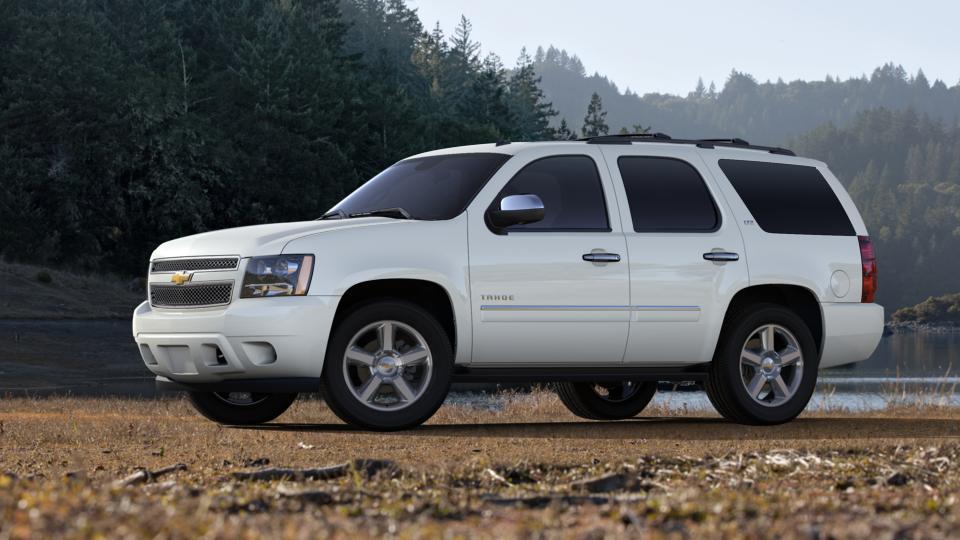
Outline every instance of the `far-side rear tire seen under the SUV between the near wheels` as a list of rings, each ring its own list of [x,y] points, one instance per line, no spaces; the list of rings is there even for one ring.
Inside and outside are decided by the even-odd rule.
[[[560,401],[580,418],[624,420],[646,408],[657,393],[657,383],[626,381],[618,385],[601,385],[564,382],[558,383],[556,390]],[[628,395],[624,396],[624,392]]]

